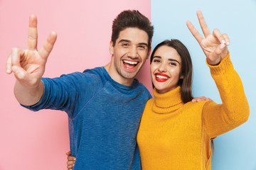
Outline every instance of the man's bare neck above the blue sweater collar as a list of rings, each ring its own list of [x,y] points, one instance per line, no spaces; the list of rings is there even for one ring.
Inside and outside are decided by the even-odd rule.
[[[105,65],[105,69],[107,70],[107,73],[110,74],[110,77],[117,81],[117,83],[122,84],[124,86],[131,86],[134,79],[125,79],[122,77],[117,70],[114,68],[114,64],[111,62]]]

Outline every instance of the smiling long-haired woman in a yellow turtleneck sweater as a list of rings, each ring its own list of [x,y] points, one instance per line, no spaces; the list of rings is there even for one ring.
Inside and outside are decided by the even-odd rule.
[[[206,38],[189,21],[187,26],[206,55],[223,104],[191,102],[192,62],[188,50],[178,40],[157,45],[150,60],[155,98],[146,103],[137,135],[143,170],[208,170],[210,140],[248,119],[242,82],[230,61],[228,35],[217,29],[211,34],[201,11],[197,15]]]

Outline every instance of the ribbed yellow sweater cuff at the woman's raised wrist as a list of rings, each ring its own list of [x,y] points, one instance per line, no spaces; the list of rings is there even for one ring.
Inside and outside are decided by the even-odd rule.
[[[233,64],[230,60],[230,52],[228,51],[228,55],[220,62],[218,65],[210,65],[206,60],[206,64],[210,68],[211,74],[223,74],[228,72],[229,69],[233,69]]]

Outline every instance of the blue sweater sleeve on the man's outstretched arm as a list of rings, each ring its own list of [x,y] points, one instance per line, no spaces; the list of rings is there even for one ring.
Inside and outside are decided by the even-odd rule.
[[[92,79],[94,81],[91,81]],[[42,82],[44,90],[41,100],[33,106],[21,106],[31,111],[42,109],[65,111],[70,118],[82,109],[81,103],[87,103],[97,91],[97,86],[100,86],[95,74],[80,72],[63,74],[53,79],[42,78]]]

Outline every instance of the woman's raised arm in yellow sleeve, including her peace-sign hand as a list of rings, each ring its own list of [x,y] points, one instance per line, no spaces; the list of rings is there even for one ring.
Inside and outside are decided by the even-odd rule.
[[[203,108],[203,125],[213,138],[245,123],[250,111],[242,81],[230,60],[228,35],[221,34],[218,29],[211,34],[201,11],[197,12],[197,16],[205,38],[191,22],[188,21],[187,26],[206,55],[210,73],[223,101],[223,104],[208,102]]]

